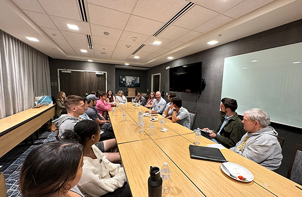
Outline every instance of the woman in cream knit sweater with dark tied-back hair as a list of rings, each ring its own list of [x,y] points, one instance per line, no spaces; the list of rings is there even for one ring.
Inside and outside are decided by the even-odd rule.
[[[75,125],[74,132],[67,132],[64,134],[69,136],[68,140],[76,140],[84,149],[83,174],[77,184],[81,192],[86,197],[131,196],[123,167],[111,163],[95,145],[100,139],[98,123],[82,120]]]

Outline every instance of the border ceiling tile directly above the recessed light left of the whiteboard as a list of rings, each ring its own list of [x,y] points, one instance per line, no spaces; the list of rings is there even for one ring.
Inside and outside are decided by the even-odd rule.
[[[203,23],[202,25],[200,25],[199,27],[197,27],[194,30],[202,32],[202,33],[206,33],[212,29],[215,29],[217,27],[220,27],[223,24],[230,22],[231,20],[233,20],[233,19],[220,14],[217,17],[207,21],[206,23]]]

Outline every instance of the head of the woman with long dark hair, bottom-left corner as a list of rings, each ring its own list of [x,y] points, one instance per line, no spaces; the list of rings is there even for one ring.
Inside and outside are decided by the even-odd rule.
[[[76,184],[82,176],[83,147],[73,142],[50,142],[26,157],[19,189],[23,197],[84,197]]]

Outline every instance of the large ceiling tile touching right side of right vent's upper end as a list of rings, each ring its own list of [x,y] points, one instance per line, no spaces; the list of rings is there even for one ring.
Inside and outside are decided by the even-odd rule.
[[[182,17],[177,19],[173,25],[193,30],[218,15],[219,13],[217,12],[195,5]]]

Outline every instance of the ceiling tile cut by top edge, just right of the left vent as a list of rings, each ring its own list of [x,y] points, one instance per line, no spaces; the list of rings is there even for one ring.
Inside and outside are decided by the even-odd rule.
[[[90,4],[111,8],[122,12],[131,13],[137,0],[123,0],[123,1],[100,1],[100,0],[87,0]]]

